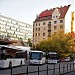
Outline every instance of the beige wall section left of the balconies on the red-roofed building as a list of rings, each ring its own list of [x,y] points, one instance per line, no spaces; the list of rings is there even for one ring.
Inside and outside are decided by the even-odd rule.
[[[45,25],[43,25],[45,23]],[[39,41],[48,38],[48,22],[36,22],[34,23],[33,41],[38,43]]]

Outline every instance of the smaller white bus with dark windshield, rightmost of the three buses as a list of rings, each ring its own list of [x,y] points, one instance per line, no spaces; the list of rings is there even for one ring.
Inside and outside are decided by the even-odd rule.
[[[49,52],[47,54],[47,63],[57,63],[58,62],[58,56],[56,52]]]

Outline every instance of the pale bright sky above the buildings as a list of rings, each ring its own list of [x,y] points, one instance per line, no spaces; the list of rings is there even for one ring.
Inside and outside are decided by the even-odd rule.
[[[32,25],[36,15],[46,9],[71,4],[71,11],[75,11],[74,2],[75,0],[0,0],[0,14]]]

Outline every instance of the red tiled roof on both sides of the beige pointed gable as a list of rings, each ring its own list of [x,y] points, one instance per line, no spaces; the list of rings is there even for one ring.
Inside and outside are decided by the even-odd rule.
[[[67,13],[69,7],[70,7],[70,5],[64,6],[64,7],[61,6],[60,8],[57,7],[57,9],[58,9],[58,11],[59,11],[59,13],[60,13],[60,16],[59,16],[60,19],[62,19],[62,18],[65,17],[65,15],[66,15],[66,13]],[[50,10],[45,10],[45,11],[41,12],[41,13],[39,14],[39,16],[36,18],[35,22],[36,22],[36,21],[43,21],[43,20],[52,19],[52,17],[51,17],[51,18],[47,18],[47,17],[52,16],[52,13],[54,12],[54,10],[55,10],[55,8],[50,9]],[[46,17],[46,18],[45,18],[45,17]],[[45,18],[45,19],[44,19],[44,18]]]

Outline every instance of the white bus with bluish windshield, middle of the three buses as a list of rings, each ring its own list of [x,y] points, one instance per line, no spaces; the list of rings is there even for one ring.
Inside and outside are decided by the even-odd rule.
[[[44,64],[46,62],[46,53],[43,51],[31,51],[29,64]]]

